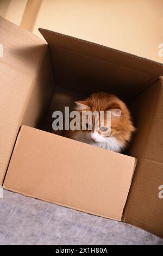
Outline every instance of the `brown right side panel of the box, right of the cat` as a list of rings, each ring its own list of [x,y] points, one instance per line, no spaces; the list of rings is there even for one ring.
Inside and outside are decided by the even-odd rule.
[[[137,157],[123,221],[163,237],[163,79],[160,78],[131,105],[135,108],[137,135],[129,154]]]

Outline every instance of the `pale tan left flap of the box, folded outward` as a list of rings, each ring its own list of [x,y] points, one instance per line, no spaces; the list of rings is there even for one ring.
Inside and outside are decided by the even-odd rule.
[[[49,61],[47,60],[48,53],[47,44],[45,42],[2,17],[0,17],[0,34],[0,43],[3,49],[3,54],[1,54],[2,56],[0,57],[1,185],[21,121],[24,120],[24,113],[26,113],[25,123],[30,125],[32,122],[33,124],[34,119],[40,114],[41,108],[33,109],[34,113],[32,113],[28,106],[34,106],[33,102],[35,101],[36,107],[36,102],[39,101],[39,97],[42,102],[40,103],[39,101],[40,105],[45,106],[47,104],[47,96],[49,93],[49,86],[47,87],[48,82],[46,81],[46,93],[45,86],[43,86],[47,69],[42,74],[44,80],[38,77],[38,73],[45,55],[46,64]],[[47,66],[49,66],[49,64]],[[48,74],[50,74],[50,71]],[[35,82],[37,86],[35,86],[33,90]],[[42,100],[42,94],[44,94],[44,96],[46,95],[44,100]],[[31,95],[33,95],[33,100],[30,100]],[[28,108],[28,110],[26,108]]]

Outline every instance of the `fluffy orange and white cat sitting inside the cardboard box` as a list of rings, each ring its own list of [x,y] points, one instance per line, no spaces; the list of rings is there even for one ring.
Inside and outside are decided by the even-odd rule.
[[[89,130],[89,123],[86,123],[86,130],[70,130],[69,138],[117,153],[121,153],[127,147],[135,127],[128,107],[116,95],[105,92],[93,93],[87,99],[77,101],[75,104],[75,109],[81,116],[83,111],[104,111],[104,113],[110,111],[110,134],[106,133],[109,129],[107,126],[98,127],[99,129],[95,130],[94,121],[92,130]]]

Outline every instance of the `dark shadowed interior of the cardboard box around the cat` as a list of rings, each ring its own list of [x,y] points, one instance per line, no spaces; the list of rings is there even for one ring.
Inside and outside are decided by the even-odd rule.
[[[106,61],[92,57],[88,59],[84,54],[65,51],[54,46],[51,47],[51,54],[56,57],[51,56],[56,87],[46,119],[40,127],[41,130],[54,132],[52,129],[52,122],[54,120],[52,113],[54,111],[62,111],[64,113],[65,106],[70,107],[70,111],[72,111],[74,101],[83,100],[93,92],[105,91],[114,93],[127,103],[137,129],[133,141],[123,154],[139,158],[136,154],[136,148],[140,147],[142,144],[140,138],[142,133],[146,132],[148,120],[155,106],[155,96],[158,92],[159,80],[153,76],[155,82],[152,83],[151,75],[128,69],[121,65],[116,66],[116,73],[114,74],[115,64],[111,65],[109,62],[108,69],[106,69],[108,65]],[[111,70],[110,72],[108,72],[109,69]],[[125,70],[124,72],[124,69],[127,69],[127,71]],[[122,71],[123,79],[121,81]],[[135,72],[134,75],[133,72]],[[114,77],[116,79],[114,79]],[[125,85],[124,77],[127,81]],[[130,77],[132,77],[132,79],[130,79]],[[150,87],[153,88],[152,94],[149,93],[148,95],[147,93],[145,94],[146,96],[143,97],[143,92],[146,90],[147,92],[148,90],[150,91]],[[146,116],[148,115],[148,118],[144,119],[142,118],[142,111],[145,109],[148,100],[151,102],[151,111],[147,112]],[[141,118],[141,120],[139,118]],[[63,135],[61,131],[55,132],[55,134]]]

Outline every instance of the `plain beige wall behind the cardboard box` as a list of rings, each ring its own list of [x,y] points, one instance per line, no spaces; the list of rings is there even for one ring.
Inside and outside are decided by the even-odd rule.
[[[38,36],[37,29],[43,27],[163,63],[158,55],[163,43],[163,0],[5,2],[10,4],[4,16]]]

